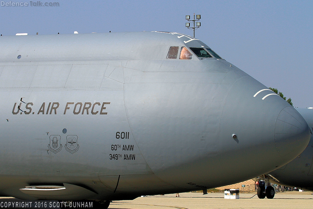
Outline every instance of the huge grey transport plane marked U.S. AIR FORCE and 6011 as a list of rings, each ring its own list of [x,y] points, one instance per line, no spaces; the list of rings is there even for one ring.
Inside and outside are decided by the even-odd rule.
[[[281,97],[170,32],[0,37],[0,195],[127,200],[285,165],[310,139]]]

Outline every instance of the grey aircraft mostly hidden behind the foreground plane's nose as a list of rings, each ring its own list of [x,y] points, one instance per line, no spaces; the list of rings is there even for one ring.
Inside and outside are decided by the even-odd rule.
[[[297,108],[310,128],[310,142],[305,150],[288,164],[259,177],[264,182],[313,191],[313,110]],[[255,179],[256,180],[256,179]],[[275,193],[274,193],[275,194]],[[274,197],[273,194],[273,197]],[[261,195],[261,198],[264,195]]]

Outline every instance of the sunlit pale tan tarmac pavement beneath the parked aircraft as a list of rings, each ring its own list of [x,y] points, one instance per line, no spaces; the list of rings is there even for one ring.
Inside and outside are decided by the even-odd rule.
[[[289,191],[276,193],[274,199],[259,199],[256,192],[239,194],[239,199],[224,199],[224,193],[187,192],[138,197],[131,201],[113,201],[109,209],[282,209],[313,208],[312,192]]]

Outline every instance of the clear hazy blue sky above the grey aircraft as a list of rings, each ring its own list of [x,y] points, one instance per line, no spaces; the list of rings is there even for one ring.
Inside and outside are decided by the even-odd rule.
[[[60,6],[0,7],[0,33],[158,30],[192,35],[185,15],[201,14],[196,38],[265,86],[291,97],[295,107],[313,107],[313,1],[42,2]]]

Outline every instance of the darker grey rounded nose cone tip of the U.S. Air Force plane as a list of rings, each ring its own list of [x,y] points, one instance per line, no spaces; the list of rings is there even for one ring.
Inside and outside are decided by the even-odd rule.
[[[308,125],[293,107],[285,107],[277,117],[275,125],[275,146],[284,159],[292,159],[304,147],[309,138]]]

